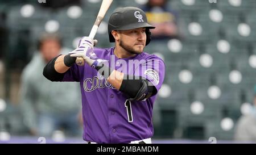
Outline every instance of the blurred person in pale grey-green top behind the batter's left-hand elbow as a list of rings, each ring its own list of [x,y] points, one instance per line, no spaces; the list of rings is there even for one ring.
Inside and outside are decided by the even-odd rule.
[[[22,73],[20,107],[31,135],[51,136],[63,130],[68,136],[81,136],[81,93],[79,83],[51,82],[43,68],[49,60],[72,50],[61,48],[57,35],[44,34],[36,52]],[[67,131],[67,132],[66,132]]]

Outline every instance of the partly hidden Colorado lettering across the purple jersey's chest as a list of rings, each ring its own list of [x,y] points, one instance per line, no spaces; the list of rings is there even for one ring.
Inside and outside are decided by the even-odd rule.
[[[115,89],[106,79],[104,79],[102,76],[100,77],[93,77],[93,78],[86,78],[84,80],[84,90],[87,92],[96,90],[96,89],[102,89],[107,87],[108,89]]]

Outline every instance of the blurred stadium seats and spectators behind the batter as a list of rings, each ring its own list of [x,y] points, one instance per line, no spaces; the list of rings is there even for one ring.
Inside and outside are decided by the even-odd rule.
[[[70,86],[42,68],[89,35],[100,5],[0,0],[0,143],[83,143],[80,97],[65,99]],[[97,47],[114,45],[108,19],[120,6],[146,12],[156,29],[144,51],[166,64],[153,143],[255,143],[256,0],[114,0]]]

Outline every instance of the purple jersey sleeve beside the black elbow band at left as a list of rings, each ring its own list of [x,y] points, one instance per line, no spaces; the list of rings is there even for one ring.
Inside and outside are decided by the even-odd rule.
[[[72,82],[76,81],[79,82],[79,66],[74,64],[68,71],[65,73],[62,81]]]

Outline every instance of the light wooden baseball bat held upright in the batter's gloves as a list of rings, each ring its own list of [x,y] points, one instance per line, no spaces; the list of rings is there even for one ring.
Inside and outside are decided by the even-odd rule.
[[[94,38],[94,36],[97,33],[98,27],[101,24],[102,19],[104,18],[104,16],[106,15],[106,11],[108,11],[111,3],[113,2],[113,0],[103,0],[101,3],[101,7],[100,7],[100,11],[98,12],[97,18],[95,20],[95,23],[92,27],[92,30],[90,30],[90,38]],[[82,57],[77,57],[76,58],[76,64],[79,66],[83,66],[84,65],[84,58]]]

